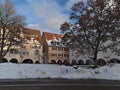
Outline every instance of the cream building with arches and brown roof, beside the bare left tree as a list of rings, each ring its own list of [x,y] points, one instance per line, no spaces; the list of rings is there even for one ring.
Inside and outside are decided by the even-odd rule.
[[[4,61],[18,63],[43,63],[43,45],[40,30],[24,28],[21,31],[22,43],[12,46]]]

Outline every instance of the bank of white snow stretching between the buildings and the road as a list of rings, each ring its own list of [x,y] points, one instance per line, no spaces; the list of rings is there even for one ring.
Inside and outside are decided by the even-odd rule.
[[[120,64],[97,69],[50,64],[0,64],[0,79],[68,78],[120,80]]]

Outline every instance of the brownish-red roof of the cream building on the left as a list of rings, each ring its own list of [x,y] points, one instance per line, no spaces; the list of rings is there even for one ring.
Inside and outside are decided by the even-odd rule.
[[[30,40],[31,38],[34,38],[34,40],[37,40],[42,44],[42,38],[41,38],[40,30],[23,28],[23,33],[24,33],[24,38],[25,39]]]

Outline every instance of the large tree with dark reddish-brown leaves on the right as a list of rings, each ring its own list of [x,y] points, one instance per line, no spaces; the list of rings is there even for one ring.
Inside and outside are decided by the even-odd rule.
[[[120,35],[119,0],[83,0],[72,6],[70,21],[61,25],[64,41],[80,54],[92,56],[116,45]],[[110,43],[109,43],[110,42]]]

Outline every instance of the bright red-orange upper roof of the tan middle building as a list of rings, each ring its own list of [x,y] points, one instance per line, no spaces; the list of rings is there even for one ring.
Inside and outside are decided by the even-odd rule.
[[[55,33],[50,33],[50,32],[43,32],[43,37],[46,40],[52,40],[52,39],[59,39],[62,38],[63,35],[62,34],[55,34]]]

